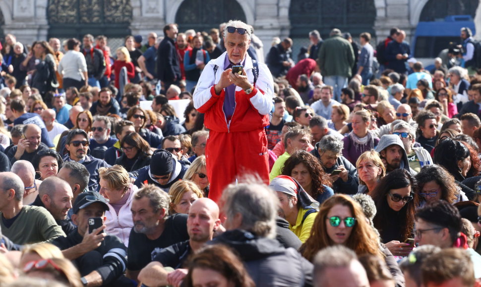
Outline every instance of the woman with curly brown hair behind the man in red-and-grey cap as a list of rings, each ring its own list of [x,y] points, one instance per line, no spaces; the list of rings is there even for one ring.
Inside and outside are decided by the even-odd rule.
[[[305,150],[296,151],[286,160],[282,174],[297,180],[304,191],[321,204],[334,195],[329,176],[319,160]]]

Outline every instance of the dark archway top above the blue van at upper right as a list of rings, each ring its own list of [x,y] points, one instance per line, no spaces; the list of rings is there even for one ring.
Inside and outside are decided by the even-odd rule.
[[[429,0],[422,8],[419,21],[438,21],[451,15],[471,15],[473,18],[479,0]]]

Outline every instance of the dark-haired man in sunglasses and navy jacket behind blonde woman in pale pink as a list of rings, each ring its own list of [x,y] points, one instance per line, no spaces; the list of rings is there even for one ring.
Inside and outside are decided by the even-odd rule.
[[[88,153],[90,141],[84,130],[74,129],[68,132],[65,149],[68,154],[63,161],[76,161],[83,164],[90,173],[88,190],[96,191],[99,185],[99,168],[110,167],[103,159],[98,159]]]

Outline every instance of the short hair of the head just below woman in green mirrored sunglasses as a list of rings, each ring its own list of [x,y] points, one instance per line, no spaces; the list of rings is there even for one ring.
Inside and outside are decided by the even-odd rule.
[[[321,249],[314,257],[314,282],[323,280],[327,268],[346,268],[353,261],[358,261],[358,256],[344,245],[333,245]]]

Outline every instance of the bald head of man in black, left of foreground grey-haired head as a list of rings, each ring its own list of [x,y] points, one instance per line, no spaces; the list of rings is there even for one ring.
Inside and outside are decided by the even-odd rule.
[[[187,217],[187,233],[193,242],[203,244],[212,240],[219,228],[219,206],[209,198],[199,198],[192,203]]]

